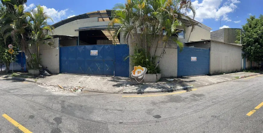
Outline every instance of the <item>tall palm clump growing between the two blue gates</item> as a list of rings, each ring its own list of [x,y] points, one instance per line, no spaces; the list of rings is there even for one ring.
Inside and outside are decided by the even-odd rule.
[[[125,4],[114,5],[109,27],[114,28],[115,23],[121,24],[115,28],[113,39],[122,33],[127,43],[129,36],[134,39],[133,34],[138,35],[139,31],[141,33],[139,42],[145,42],[145,51],[148,51],[149,46],[153,46],[155,37],[158,40],[162,39],[164,45],[155,66],[157,68],[168,41],[176,42],[180,49],[183,49],[183,44],[172,36],[178,32],[176,26],[180,24],[184,27],[183,19],[189,20],[192,23],[192,30],[194,29],[193,18],[188,16],[191,12],[194,18],[196,12],[190,0],[127,0]],[[159,41],[157,41],[158,43]],[[155,56],[156,50],[157,47],[154,54],[153,50],[151,51],[150,60]],[[145,52],[146,59],[147,53]]]

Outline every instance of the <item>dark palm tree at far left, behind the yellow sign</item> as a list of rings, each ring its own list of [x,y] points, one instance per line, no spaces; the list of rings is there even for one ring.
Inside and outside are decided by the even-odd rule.
[[[13,5],[14,13],[6,14],[5,19],[11,21],[11,23],[1,26],[1,33],[4,34],[4,41],[6,43],[6,39],[11,36],[14,43],[18,44],[22,51],[25,52],[27,56],[26,62],[29,69],[33,68],[32,66],[32,56],[28,49],[28,31],[30,27],[28,26],[28,21],[26,19],[26,15],[24,14],[24,6],[23,5]]]

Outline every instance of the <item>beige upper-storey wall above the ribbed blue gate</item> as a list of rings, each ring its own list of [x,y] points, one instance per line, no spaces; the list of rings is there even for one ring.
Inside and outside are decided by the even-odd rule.
[[[186,27],[185,29],[185,39],[187,42],[190,41],[201,41],[201,39],[210,39],[210,28],[204,26],[203,24],[198,24],[191,33],[192,27]],[[189,38],[190,36],[190,38]],[[188,40],[189,38],[189,40]]]

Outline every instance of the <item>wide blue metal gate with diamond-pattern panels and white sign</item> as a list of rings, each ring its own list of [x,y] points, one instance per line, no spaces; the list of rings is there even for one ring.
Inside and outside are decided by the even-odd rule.
[[[60,73],[128,77],[128,54],[126,44],[60,47]]]

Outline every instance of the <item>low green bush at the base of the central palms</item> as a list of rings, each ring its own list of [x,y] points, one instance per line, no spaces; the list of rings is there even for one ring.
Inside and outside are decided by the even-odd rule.
[[[150,52],[147,51],[147,58],[146,58],[145,57],[145,49],[143,49],[143,48],[135,47],[134,54],[129,55],[128,57],[131,58],[133,66],[139,66],[140,65],[142,67],[146,67],[148,74],[156,74],[156,73],[161,72],[161,69],[159,66],[155,69],[155,60],[156,60],[157,56],[152,57],[152,60],[151,60]]]

